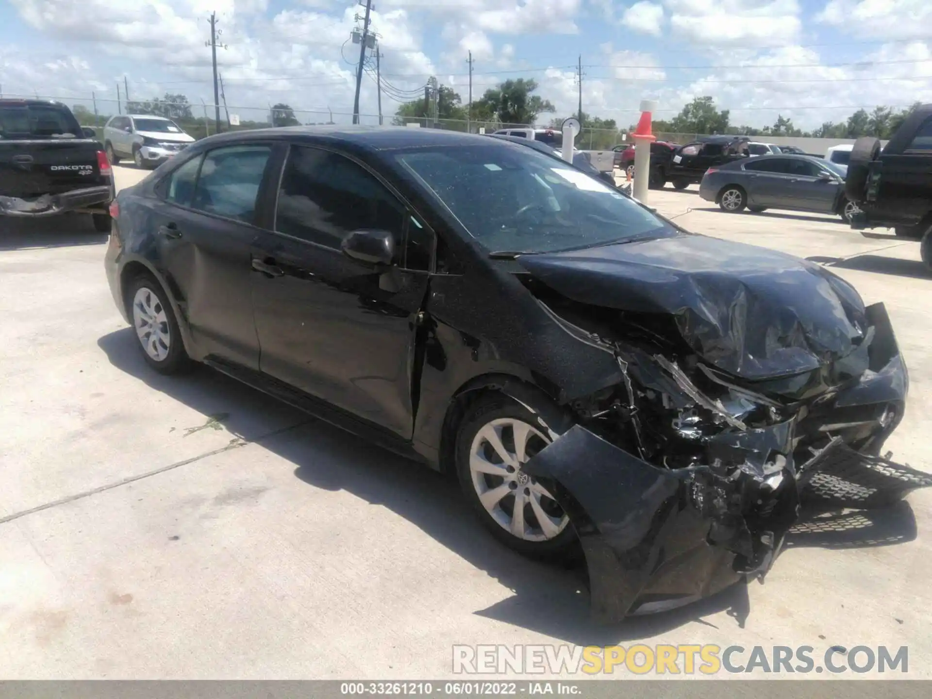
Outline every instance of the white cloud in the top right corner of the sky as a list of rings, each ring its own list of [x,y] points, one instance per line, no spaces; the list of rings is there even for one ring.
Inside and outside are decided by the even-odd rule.
[[[929,0],[829,0],[816,21],[846,34],[869,38],[927,38],[932,27]]]

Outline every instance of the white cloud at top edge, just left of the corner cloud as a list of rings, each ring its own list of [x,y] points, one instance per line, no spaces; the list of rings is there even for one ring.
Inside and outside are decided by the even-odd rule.
[[[779,47],[802,31],[797,0],[664,0],[676,37],[702,47]]]

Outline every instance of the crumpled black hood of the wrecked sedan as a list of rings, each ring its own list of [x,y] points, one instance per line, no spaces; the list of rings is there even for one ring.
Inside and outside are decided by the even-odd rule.
[[[744,243],[683,234],[517,261],[574,301],[673,315],[693,351],[747,379],[838,360],[868,326],[864,304],[846,281]]]

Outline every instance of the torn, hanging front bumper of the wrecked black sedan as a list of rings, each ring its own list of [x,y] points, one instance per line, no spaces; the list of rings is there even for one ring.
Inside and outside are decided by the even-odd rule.
[[[622,409],[637,438],[619,445],[583,421],[523,469],[548,484],[576,528],[596,620],[673,609],[743,579],[762,581],[803,502],[883,507],[932,485],[932,476],[879,456],[901,417],[908,377],[883,306],[868,316],[873,335],[860,377],[790,405],[783,415],[791,417],[765,426],[729,413],[676,363],[619,347],[631,399]],[[692,415],[718,414],[720,430],[697,441],[700,457],[681,468],[666,466],[665,456],[659,464],[643,458],[638,430],[649,425],[642,417],[638,427],[638,387],[668,393]]]

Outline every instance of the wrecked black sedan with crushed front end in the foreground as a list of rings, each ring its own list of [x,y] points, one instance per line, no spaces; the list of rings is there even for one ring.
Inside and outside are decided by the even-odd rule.
[[[801,500],[928,485],[881,456],[908,387],[882,305],[531,148],[240,131],[117,208],[107,277],[153,369],[456,473],[514,550],[583,551],[602,620],[761,577]]]

